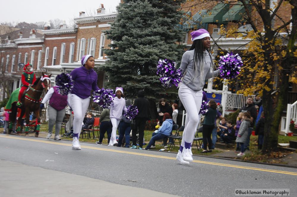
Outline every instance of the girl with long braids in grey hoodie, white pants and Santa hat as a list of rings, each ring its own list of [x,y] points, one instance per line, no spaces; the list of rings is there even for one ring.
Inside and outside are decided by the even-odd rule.
[[[208,52],[210,48],[210,35],[205,29],[191,33],[192,47],[186,51],[181,59],[181,70],[184,77],[178,90],[178,96],[187,111],[185,129],[181,146],[176,159],[184,165],[193,161],[191,142],[197,130],[199,111],[202,103],[202,88],[205,79],[218,75],[219,71],[212,72],[212,59]]]

